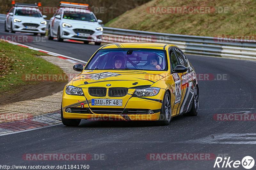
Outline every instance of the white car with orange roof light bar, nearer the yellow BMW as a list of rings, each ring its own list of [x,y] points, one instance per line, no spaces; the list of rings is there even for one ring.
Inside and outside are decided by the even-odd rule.
[[[57,38],[84,41],[85,44],[93,41],[95,45],[102,42],[103,28],[92,11],[87,10],[87,4],[61,2],[48,25],[48,39]]]

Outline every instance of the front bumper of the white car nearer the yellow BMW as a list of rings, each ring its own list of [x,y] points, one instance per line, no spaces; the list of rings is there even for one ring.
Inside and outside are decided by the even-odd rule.
[[[91,30],[94,33],[88,37],[79,37],[74,29],[84,29],[84,28],[76,28],[76,27],[64,27],[61,29],[60,38],[62,39],[74,39],[78,41],[93,41],[93,42],[102,42],[102,31]],[[83,32],[81,32],[83,33]]]

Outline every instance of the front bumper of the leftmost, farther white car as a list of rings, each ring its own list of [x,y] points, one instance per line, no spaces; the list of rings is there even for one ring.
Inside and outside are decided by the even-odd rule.
[[[27,29],[26,26],[24,26],[23,24],[25,24],[25,22],[12,22],[13,31],[38,32],[38,33],[45,34],[46,25],[44,25],[44,24],[31,23],[31,24],[37,24],[38,25],[35,29]]]

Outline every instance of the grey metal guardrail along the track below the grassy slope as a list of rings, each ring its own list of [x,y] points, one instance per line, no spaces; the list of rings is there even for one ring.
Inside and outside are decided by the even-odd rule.
[[[4,23],[5,14],[0,14]],[[49,20],[46,20],[47,23]],[[158,42],[174,44],[185,53],[223,57],[256,59],[256,41],[217,39],[217,37],[191,36],[103,27],[103,42]]]

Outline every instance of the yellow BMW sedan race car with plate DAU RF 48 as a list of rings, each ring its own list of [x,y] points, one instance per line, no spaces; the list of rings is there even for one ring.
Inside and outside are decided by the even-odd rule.
[[[61,120],[78,126],[81,119],[158,121],[196,116],[196,73],[175,45],[115,43],[100,47],[64,88]]]

